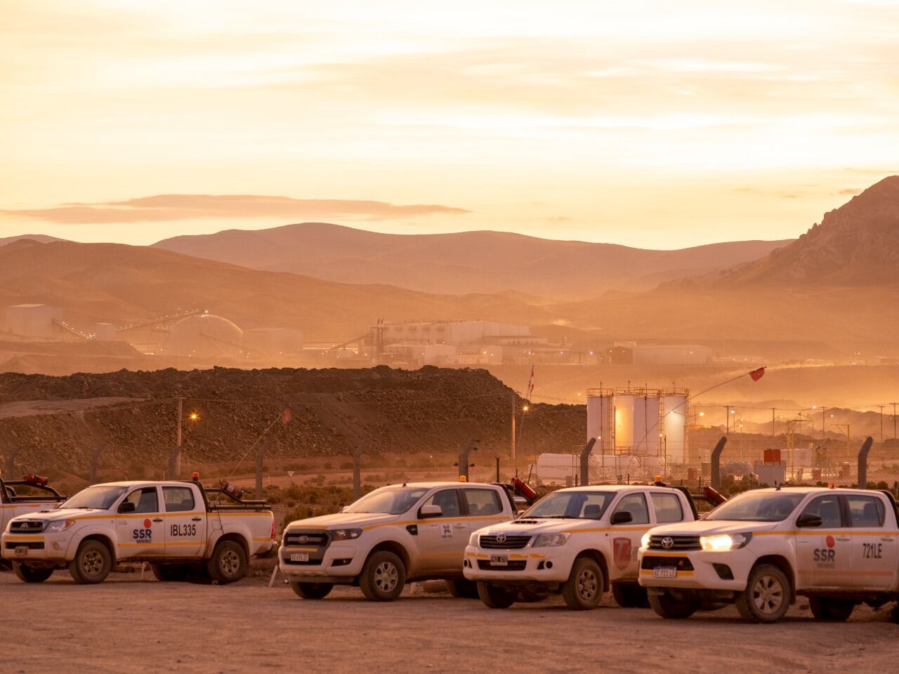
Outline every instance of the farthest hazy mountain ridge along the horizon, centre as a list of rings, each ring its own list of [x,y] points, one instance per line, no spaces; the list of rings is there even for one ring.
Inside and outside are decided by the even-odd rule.
[[[556,241],[505,232],[378,234],[307,222],[255,231],[176,236],[155,246],[259,270],[345,283],[387,283],[438,294],[518,290],[573,300],[761,258],[789,241],[737,241],[677,251]]]

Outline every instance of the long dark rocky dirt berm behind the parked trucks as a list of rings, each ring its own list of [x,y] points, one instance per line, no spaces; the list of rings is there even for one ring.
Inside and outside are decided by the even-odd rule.
[[[270,425],[269,457],[346,456],[360,441],[367,453],[455,454],[468,439],[480,440],[483,457],[508,452],[512,395],[481,369],[5,373],[0,374],[0,412],[7,410],[0,413],[0,454],[19,450],[16,465],[36,470],[48,465],[84,470],[102,443],[104,462],[156,462],[174,447],[182,397],[183,452],[200,462],[242,457]],[[97,406],[102,398],[110,404]],[[47,413],[46,401],[58,402],[54,412]],[[520,411],[523,404],[515,399]],[[288,405],[290,421],[282,423],[279,415]],[[583,405],[534,404],[523,421],[519,413],[518,427],[521,454],[570,451],[583,445],[586,413]]]

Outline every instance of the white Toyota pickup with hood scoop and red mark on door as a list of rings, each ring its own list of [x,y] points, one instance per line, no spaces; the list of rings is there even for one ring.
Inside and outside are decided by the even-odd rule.
[[[696,519],[686,490],[604,484],[552,492],[511,522],[471,535],[463,572],[477,582],[487,607],[506,608],[521,596],[561,592],[568,607],[596,607],[612,590],[623,607],[645,606],[636,552],[650,528]]]

